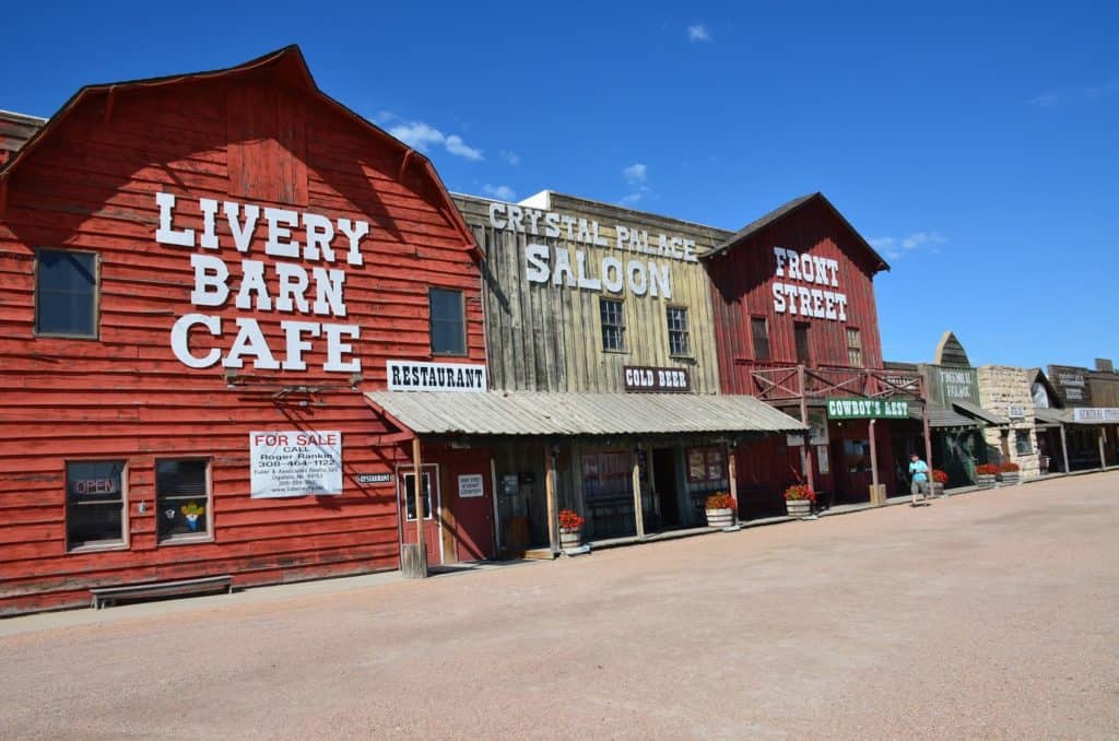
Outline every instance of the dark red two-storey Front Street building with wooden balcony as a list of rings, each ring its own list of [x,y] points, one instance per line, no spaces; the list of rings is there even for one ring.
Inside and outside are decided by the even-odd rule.
[[[916,377],[877,370],[874,276],[888,270],[882,256],[817,193],[746,225],[704,260],[723,392],[803,414],[812,428],[807,448],[794,435],[740,447],[743,514],[783,512],[781,490],[800,477],[828,499],[865,500],[874,478],[871,429],[878,478],[896,491],[890,423],[829,421],[826,407],[829,397],[920,396]]]

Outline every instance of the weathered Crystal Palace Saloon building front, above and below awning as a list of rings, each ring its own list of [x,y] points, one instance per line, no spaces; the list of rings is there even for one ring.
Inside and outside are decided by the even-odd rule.
[[[552,191],[518,204],[455,200],[486,253],[495,391],[721,391],[699,256],[728,232]],[[733,488],[737,441],[735,434],[575,434],[499,447],[502,538],[547,543],[549,467],[560,506],[584,513],[592,538],[703,525],[704,499]]]

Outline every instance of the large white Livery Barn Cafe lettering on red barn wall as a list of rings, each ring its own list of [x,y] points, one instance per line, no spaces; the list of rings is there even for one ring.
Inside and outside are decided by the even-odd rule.
[[[360,242],[369,233],[367,222],[335,221],[308,212],[210,198],[185,206],[169,193],[157,193],[156,203],[157,243],[203,248],[190,254],[195,273],[191,303],[215,308],[233,297],[234,306],[242,311],[286,315],[280,321],[282,347],[270,345],[252,317],[238,317],[234,328],[215,315],[184,315],[171,328],[171,349],[180,363],[190,368],[218,363],[226,368],[242,368],[247,360],[261,370],[305,370],[303,354],[316,344],[325,344],[323,370],[361,370],[361,360],[351,357],[352,340],[360,337],[360,327],[338,320],[346,318],[347,270],[365,262]],[[176,226],[176,214],[182,209],[200,215],[203,228]],[[219,243],[219,221],[228,225],[232,244]],[[254,242],[254,235],[262,224],[267,236],[260,244]],[[294,238],[293,229],[304,235],[302,243]],[[264,256],[272,260],[260,259]],[[266,278],[278,287],[274,293]],[[191,334],[197,343],[194,348]],[[217,339],[198,340],[199,335]]]

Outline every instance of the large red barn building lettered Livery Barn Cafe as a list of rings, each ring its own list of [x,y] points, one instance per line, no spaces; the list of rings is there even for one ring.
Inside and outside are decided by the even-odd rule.
[[[294,47],[0,134],[0,613],[396,569],[412,444],[364,392],[396,360],[486,387],[477,246],[431,163]],[[488,555],[488,465],[424,463],[432,562]],[[477,499],[439,496],[454,475]]]

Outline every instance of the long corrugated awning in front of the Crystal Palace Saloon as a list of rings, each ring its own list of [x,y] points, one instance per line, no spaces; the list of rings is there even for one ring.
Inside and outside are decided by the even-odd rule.
[[[800,421],[753,396],[378,391],[366,397],[420,434],[600,435],[806,430]]]

